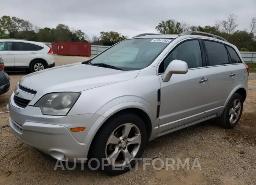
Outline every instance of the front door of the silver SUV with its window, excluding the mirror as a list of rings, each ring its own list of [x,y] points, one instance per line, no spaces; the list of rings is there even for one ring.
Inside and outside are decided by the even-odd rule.
[[[159,113],[160,133],[202,119],[206,116],[208,69],[201,40],[191,39],[175,46],[160,64],[164,72],[174,59],[188,64],[187,74],[173,74],[168,82],[162,80]]]

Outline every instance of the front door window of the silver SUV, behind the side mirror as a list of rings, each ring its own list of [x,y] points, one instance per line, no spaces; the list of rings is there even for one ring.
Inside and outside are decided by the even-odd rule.
[[[163,61],[163,66],[161,67],[160,65],[159,73],[164,72],[170,62],[175,59],[187,62],[189,69],[202,67],[202,55],[199,41],[189,40],[178,45]]]

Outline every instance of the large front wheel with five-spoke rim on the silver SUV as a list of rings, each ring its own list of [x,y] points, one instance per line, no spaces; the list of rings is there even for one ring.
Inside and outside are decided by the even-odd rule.
[[[131,113],[110,118],[95,137],[88,165],[107,175],[120,175],[133,168],[148,142],[143,120]]]

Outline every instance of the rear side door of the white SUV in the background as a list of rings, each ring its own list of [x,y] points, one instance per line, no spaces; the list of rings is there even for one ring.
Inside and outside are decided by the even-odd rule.
[[[31,60],[36,58],[34,47],[30,43],[14,42],[15,67],[29,66]]]

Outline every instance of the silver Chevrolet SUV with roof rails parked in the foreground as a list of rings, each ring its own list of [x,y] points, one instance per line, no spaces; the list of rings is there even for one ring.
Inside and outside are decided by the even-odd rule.
[[[12,132],[57,160],[93,159],[117,175],[159,136],[212,118],[235,127],[248,66],[236,46],[200,34],[141,34],[90,60],[24,76],[7,106]]]

